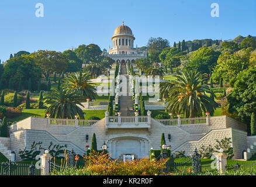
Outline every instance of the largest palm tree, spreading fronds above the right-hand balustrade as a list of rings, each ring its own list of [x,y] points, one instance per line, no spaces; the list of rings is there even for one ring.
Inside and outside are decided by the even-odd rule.
[[[205,75],[197,71],[184,70],[181,75],[175,75],[177,80],[171,81],[169,88],[168,105],[166,110],[170,113],[184,113],[185,117],[201,117],[203,113],[213,113],[217,103],[211,94],[209,86],[204,84]]]

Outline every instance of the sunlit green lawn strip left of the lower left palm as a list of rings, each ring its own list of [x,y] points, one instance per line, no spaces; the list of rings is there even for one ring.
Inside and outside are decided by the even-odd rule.
[[[27,117],[31,117],[31,116],[44,117],[46,115],[46,113],[44,112],[45,110],[46,109],[23,109],[21,116],[8,119],[8,120],[10,122],[19,122],[20,120],[26,119]]]

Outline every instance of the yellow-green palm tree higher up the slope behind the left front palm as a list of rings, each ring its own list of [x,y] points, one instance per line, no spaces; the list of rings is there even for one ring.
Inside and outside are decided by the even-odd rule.
[[[90,82],[91,76],[87,74],[72,73],[63,79],[62,84],[68,91],[82,91],[84,98],[95,98],[96,88],[95,84]]]

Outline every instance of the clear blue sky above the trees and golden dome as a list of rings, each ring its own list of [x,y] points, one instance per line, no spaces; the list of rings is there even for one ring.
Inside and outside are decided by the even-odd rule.
[[[35,15],[39,2],[44,18]],[[210,16],[212,3],[220,6],[219,18]],[[90,43],[108,50],[122,20],[139,47],[150,37],[172,45],[183,39],[256,36],[256,0],[1,0],[0,20],[0,59],[5,61],[20,50],[64,51]]]

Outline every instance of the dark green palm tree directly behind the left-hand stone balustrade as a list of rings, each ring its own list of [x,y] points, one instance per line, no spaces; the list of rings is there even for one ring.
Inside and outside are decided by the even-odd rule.
[[[78,114],[81,119],[84,119],[84,113],[78,105],[83,106],[81,101],[84,97],[81,91],[70,92],[60,88],[53,88],[51,92],[46,93],[46,97],[41,99],[49,107],[46,113],[50,113],[54,118],[74,119]]]

